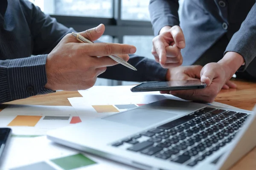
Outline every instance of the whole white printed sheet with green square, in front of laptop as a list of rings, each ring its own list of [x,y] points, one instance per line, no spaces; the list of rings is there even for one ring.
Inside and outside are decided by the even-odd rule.
[[[12,137],[1,170],[137,170],[118,162],[55,144],[46,136]]]

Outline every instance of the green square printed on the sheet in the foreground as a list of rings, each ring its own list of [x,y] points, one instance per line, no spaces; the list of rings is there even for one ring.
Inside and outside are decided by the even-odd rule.
[[[64,170],[72,170],[75,168],[96,164],[95,161],[85,157],[81,153],[63,158],[52,159],[51,161],[63,168]]]

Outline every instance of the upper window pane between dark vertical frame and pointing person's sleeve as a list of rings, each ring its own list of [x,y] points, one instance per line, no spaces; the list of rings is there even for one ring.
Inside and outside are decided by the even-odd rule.
[[[122,0],[122,20],[145,20],[149,21],[149,0]]]

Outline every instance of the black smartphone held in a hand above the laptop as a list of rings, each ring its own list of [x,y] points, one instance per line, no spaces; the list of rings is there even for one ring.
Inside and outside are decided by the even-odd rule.
[[[143,82],[133,88],[132,92],[143,91],[174,91],[174,90],[189,90],[206,88],[206,84],[200,79],[197,80],[182,80],[182,81],[167,81],[167,82]]]

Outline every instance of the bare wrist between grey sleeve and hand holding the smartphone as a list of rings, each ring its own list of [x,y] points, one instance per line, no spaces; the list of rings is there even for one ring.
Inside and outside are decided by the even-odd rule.
[[[233,74],[235,74],[236,71],[241,67],[241,65],[244,65],[244,58],[236,52],[229,51],[221,60],[218,61],[218,63],[226,68],[225,70],[227,71],[228,76],[231,78]]]

